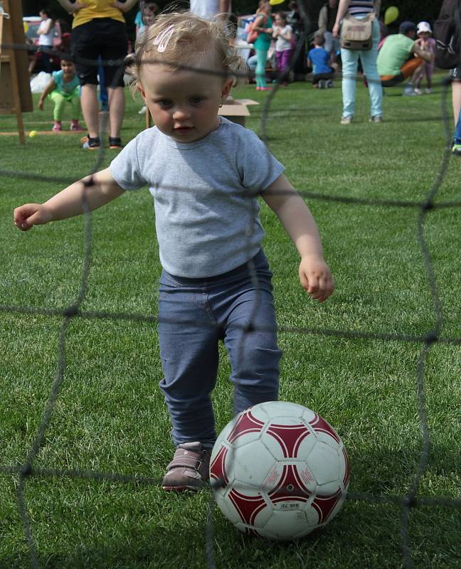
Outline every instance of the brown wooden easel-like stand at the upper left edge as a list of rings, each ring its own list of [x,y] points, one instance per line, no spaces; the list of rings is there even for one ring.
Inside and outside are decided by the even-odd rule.
[[[21,2],[2,0],[0,11],[0,115],[16,115],[19,141],[24,137],[23,112],[33,110],[26,49],[14,49],[12,43],[26,46]]]

